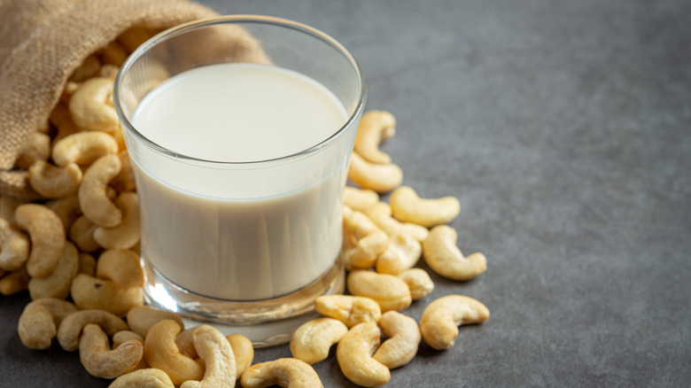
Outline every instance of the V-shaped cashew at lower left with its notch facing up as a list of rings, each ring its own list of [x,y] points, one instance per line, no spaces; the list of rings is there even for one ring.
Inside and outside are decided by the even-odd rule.
[[[108,336],[100,326],[89,323],[79,338],[79,359],[91,376],[115,378],[134,369],[142,360],[144,345],[127,341],[111,350]]]

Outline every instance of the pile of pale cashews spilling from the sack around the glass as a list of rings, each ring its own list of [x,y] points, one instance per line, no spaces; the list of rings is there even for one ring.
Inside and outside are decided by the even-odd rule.
[[[132,28],[86,58],[50,120],[27,139],[15,167],[27,170],[41,199],[0,196],[0,293],[28,290],[33,299],[19,317],[24,345],[46,349],[57,338],[114,388],[321,387],[312,365],[336,345],[344,376],[373,387],[412,361],[421,341],[446,349],[459,325],[489,317],[462,295],[431,301],[419,324],[401,313],[434,289],[420,258],[456,281],[485,272],[486,260],[464,256],[447,225],[460,213],[457,198],[420,198],[401,186],[400,167],[379,150],[396,126],[383,111],[361,119],[348,173],[354,186],[344,192],[339,260],[349,294],[316,300],[323,317],[295,331],[292,358],[252,365],[248,338],[185,328],[177,314],[145,307],[139,204],[112,93],[118,66],[152,34]]]

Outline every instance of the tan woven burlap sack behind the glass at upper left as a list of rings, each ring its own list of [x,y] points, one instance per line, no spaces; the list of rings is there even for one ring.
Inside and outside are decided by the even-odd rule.
[[[0,194],[38,198],[12,170],[84,58],[129,27],[164,29],[217,15],[184,0],[0,0]],[[238,41],[251,36],[238,33]]]

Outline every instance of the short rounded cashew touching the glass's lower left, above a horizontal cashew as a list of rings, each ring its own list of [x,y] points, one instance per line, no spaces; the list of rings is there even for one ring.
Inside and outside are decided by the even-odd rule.
[[[96,277],[112,280],[122,288],[141,287],[144,284],[139,256],[126,249],[103,252],[97,260]]]

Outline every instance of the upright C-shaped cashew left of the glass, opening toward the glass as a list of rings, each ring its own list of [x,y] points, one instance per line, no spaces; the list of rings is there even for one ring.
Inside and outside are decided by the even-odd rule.
[[[98,226],[112,228],[120,225],[122,212],[108,198],[106,188],[120,174],[120,158],[105,155],[98,158],[84,173],[77,195],[82,213]]]

